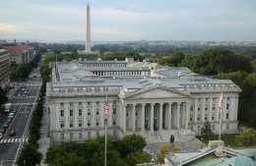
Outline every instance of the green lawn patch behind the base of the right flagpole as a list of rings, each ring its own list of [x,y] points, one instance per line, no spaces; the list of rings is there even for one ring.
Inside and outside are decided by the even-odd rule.
[[[222,135],[221,139],[224,140],[224,146],[229,146],[229,147],[241,147],[240,144],[238,144],[236,137],[238,135]],[[206,145],[208,145],[209,140],[218,140],[219,135],[214,135],[211,137],[202,137],[202,136],[197,136],[196,138],[200,139],[203,141]]]

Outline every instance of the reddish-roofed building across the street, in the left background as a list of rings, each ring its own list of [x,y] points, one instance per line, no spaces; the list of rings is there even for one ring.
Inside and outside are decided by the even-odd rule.
[[[13,62],[16,64],[29,63],[35,55],[32,46],[28,44],[4,44],[3,48],[8,50],[10,54],[10,64]]]

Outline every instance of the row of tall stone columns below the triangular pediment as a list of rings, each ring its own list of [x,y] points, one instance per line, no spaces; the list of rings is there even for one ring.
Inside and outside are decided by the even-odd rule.
[[[187,129],[189,108],[188,102],[122,104],[120,126],[123,132]]]

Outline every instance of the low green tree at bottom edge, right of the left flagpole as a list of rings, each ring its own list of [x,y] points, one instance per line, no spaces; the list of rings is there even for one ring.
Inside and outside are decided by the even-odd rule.
[[[143,150],[129,153],[125,158],[125,163],[129,166],[136,166],[136,164],[149,162],[151,162],[151,156]]]

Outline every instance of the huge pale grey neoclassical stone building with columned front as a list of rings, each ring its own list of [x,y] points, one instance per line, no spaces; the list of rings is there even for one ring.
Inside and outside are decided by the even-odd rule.
[[[198,76],[187,68],[146,62],[61,62],[53,64],[52,82],[47,83],[50,138],[57,143],[102,136],[106,103],[107,130],[113,138],[135,132],[149,141],[174,133],[182,138],[184,133],[200,134],[207,120],[218,134],[221,92],[222,131],[237,133],[240,91],[229,80]]]

